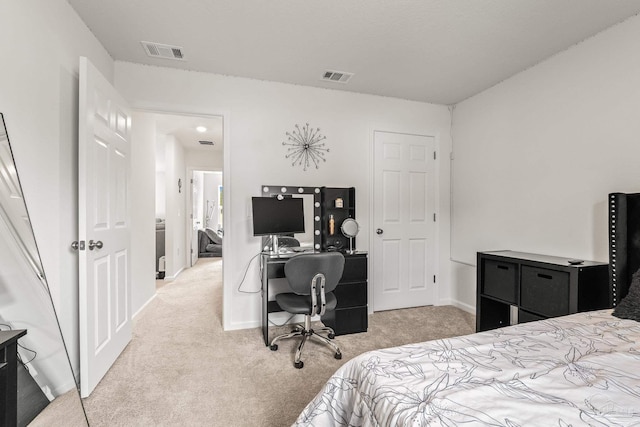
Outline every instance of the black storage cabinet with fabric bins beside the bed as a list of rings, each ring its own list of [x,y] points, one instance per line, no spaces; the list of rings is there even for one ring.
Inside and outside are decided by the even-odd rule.
[[[607,263],[514,251],[477,260],[478,332],[611,307]]]

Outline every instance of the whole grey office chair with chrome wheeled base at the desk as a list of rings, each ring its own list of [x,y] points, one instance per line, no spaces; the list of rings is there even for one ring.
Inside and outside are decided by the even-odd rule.
[[[318,332],[328,332],[328,338],[311,329],[311,316],[322,316],[325,311],[336,308],[337,299],[333,290],[342,278],[344,256],[339,252],[322,252],[294,256],[284,265],[284,274],[289,281],[293,293],[276,295],[280,308],[291,314],[304,314],[304,325],[297,325],[291,333],[275,337],[271,341],[271,350],[278,349],[281,339],[301,336],[302,341],[296,351],[293,366],[301,369],[304,363],[300,360],[302,348],[309,338],[317,338],[335,350],[334,357],[342,359],[340,348],[330,339],[335,332],[329,327],[322,327]]]

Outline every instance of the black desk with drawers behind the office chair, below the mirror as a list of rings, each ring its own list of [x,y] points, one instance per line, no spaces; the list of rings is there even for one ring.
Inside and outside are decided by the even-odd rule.
[[[264,252],[260,255],[262,273],[262,336],[264,344],[269,339],[269,313],[281,312],[276,301],[269,301],[269,280],[283,278],[284,264],[289,258],[309,252],[290,252],[271,255]],[[322,317],[323,323],[333,328],[336,335],[355,332],[366,332],[368,326],[367,311],[367,253],[355,252],[344,254],[345,264],[342,279],[334,291],[338,300],[336,310]]]

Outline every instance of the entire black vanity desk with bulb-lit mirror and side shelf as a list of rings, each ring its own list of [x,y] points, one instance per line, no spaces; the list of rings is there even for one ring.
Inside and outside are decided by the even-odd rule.
[[[327,312],[322,321],[333,328],[336,335],[366,332],[368,256],[355,250],[355,237],[359,232],[355,188],[263,185],[260,193],[257,199],[273,199],[271,203],[256,198],[252,201],[254,235],[262,236],[260,271],[265,345],[270,343],[269,314],[282,311],[270,292],[270,283],[283,278],[286,261],[301,252],[344,254],[344,272],[334,291],[338,305],[334,311]],[[302,201],[286,203],[287,199]],[[262,210],[258,207],[261,203]],[[302,217],[304,227],[300,226]],[[270,224],[267,226],[263,221]],[[277,230],[285,232],[278,234]]]

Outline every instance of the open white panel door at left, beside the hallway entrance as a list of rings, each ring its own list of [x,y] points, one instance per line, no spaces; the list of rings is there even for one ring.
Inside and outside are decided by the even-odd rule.
[[[131,340],[131,113],[84,57],[79,115],[80,391],[87,397]]]

